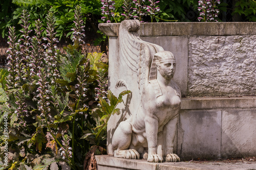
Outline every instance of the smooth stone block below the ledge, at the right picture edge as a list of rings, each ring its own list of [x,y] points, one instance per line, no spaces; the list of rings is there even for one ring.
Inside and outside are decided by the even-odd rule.
[[[222,157],[256,155],[256,112],[226,110],[222,115]]]

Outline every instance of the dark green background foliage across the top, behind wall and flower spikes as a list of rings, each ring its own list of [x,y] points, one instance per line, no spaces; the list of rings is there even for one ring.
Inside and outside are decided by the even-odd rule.
[[[140,0],[142,2],[142,0]],[[111,22],[120,22],[125,17],[121,14],[124,13],[125,4],[132,3],[131,0],[117,0],[115,1],[115,18],[110,19]],[[96,35],[97,39],[95,44],[101,44],[101,51],[106,51],[107,37],[98,30],[98,23],[106,22],[101,19],[101,7],[102,2],[100,0],[1,0],[0,11],[0,30],[1,36],[6,37],[8,34],[8,27],[15,26],[16,30],[20,29],[19,16],[24,9],[27,9],[30,15],[30,22],[35,26],[35,20],[40,19],[42,21],[42,28],[47,27],[46,15],[49,11],[54,13],[56,18],[56,36],[60,39],[66,39],[69,41],[71,35],[70,30],[74,27],[74,7],[79,5],[83,13],[83,20],[86,23],[86,32],[89,35]],[[133,4],[133,3],[132,3]],[[144,5],[149,6],[150,2],[143,2]],[[256,2],[254,0],[238,0],[233,7],[232,15],[239,15],[245,21],[255,21]],[[154,22],[167,22],[167,21],[198,21],[199,16],[198,1],[197,0],[160,0],[157,3],[157,7],[160,11],[155,14],[144,15],[143,21]],[[218,5],[220,11],[227,10],[227,4],[221,3]],[[229,7],[228,7],[229,8]],[[134,9],[133,9],[134,10]],[[135,13],[134,13],[135,14]],[[136,14],[135,14],[136,16]],[[137,15],[139,16],[139,15]],[[142,19],[141,19],[142,20]],[[221,17],[219,18],[221,21]],[[19,33],[17,33],[19,34]],[[46,32],[42,32],[46,36]],[[94,37],[95,38],[95,37]]]

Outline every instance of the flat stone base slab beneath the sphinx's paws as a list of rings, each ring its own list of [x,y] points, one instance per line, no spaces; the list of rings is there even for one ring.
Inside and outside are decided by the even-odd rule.
[[[98,170],[116,170],[116,169],[145,169],[145,170],[256,170],[256,161],[243,161],[243,162],[163,162],[163,163],[149,163],[146,160],[131,160],[114,158],[109,155],[95,156],[98,164]]]

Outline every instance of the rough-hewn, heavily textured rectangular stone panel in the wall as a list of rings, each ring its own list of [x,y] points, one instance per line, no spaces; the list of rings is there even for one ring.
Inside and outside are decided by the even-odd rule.
[[[188,96],[256,94],[256,35],[189,38]]]

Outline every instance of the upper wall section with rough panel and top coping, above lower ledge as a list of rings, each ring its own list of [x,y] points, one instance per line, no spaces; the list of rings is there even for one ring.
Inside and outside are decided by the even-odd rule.
[[[140,37],[172,52],[182,96],[256,95],[256,22],[143,23]],[[100,29],[118,37],[119,23]],[[110,44],[111,46],[111,44]]]

